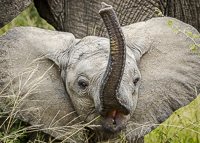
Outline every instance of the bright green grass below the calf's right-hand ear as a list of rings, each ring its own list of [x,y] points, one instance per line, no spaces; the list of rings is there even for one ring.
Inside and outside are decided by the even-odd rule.
[[[200,96],[145,136],[145,143],[199,143]]]

